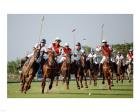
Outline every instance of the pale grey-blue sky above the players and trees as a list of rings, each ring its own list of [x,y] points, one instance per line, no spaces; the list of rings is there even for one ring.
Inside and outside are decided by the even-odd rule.
[[[8,61],[31,53],[33,46],[39,42],[40,34],[41,39],[46,39],[46,46],[59,37],[62,46],[67,42],[73,49],[74,43],[80,42],[95,48],[101,43],[103,24],[103,39],[109,44],[133,42],[131,14],[8,14]],[[76,31],[72,32],[73,29]]]

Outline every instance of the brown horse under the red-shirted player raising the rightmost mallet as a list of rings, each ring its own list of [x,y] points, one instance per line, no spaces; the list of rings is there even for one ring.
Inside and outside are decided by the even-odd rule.
[[[112,86],[112,71],[109,64],[109,59],[107,58],[102,66],[103,70],[103,80],[106,79],[109,85],[109,90],[111,90]]]

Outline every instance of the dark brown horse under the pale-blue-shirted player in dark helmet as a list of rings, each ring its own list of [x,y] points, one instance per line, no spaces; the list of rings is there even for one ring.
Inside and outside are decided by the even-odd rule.
[[[83,88],[83,83],[82,83],[83,78],[85,80],[85,87],[88,88],[87,79],[86,79],[87,76],[86,55],[82,54],[80,56],[79,62],[78,63],[76,62],[76,68],[77,70],[75,71],[75,78],[76,78],[77,88],[80,89],[79,81],[81,84],[81,88]]]

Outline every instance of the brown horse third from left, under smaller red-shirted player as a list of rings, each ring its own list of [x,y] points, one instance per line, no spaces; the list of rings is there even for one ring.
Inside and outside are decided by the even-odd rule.
[[[71,56],[66,55],[65,60],[62,63],[60,73],[64,78],[63,81],[66,81],[66,88],[69,89],[69,80],[70,80],[70,65],[71,65]]]

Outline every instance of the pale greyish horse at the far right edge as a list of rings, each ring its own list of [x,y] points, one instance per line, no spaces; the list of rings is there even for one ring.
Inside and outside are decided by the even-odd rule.
[[[127,72],[128,80],[130,83],[132,80],[132,75],[133,75],[133,63],[132,62],[128,63],[126,72]]]

